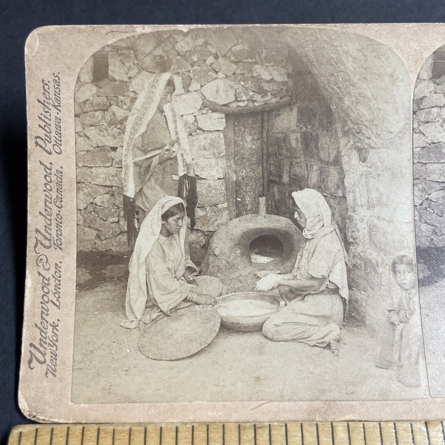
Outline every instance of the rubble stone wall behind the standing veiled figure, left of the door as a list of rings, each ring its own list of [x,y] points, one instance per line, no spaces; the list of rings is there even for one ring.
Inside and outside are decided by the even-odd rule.
[[[96,57],[108,58],[108,78],[101,81],[93,80],[95,56],[85,62],[74,96],[79,251],[128,250],[121,188],[125,123],[154,73],[171,72],[182,80],[172,105],[186,122],[199,177],[191,247],[200,249],[228,221],[225,115],[203,101],[245,107],[289,100],[288,50],[263,43],[236,28],[162,31],[102,48]]]

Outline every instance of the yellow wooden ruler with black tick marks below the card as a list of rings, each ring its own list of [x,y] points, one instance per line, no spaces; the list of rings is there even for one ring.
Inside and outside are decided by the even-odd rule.
[[[442,421],[18,425],[8,445],[445,445]]]

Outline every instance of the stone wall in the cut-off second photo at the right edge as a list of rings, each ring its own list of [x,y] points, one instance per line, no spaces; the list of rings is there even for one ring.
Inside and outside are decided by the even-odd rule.
[[[445,71],[439,71],[443,53],[442,47],[425,61],[414,89],[414,204],[421,281],[444,275]],[[433,69],[433,61],[442,62]]]

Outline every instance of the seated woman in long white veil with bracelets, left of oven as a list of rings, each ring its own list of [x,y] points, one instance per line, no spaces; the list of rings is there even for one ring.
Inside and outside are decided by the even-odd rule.
[[[186,221],[184,201],[166,196],[142,222],[129,261],[122,327],[149,324],[194,303],[215,304],[221,295],[220,279],[196,276],[186,249]]]

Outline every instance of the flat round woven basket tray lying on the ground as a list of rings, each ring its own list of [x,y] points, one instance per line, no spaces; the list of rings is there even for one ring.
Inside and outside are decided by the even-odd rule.
[[[189,357],[214,339],[220,321],[212,306],[185,307],[147,326],[139,340],[139,350],[153,360]]]

